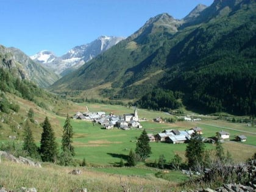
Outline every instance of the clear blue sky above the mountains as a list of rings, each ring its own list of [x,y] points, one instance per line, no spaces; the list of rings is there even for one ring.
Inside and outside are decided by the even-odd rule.
[[[213,0],[0,0],[0,44],[27,55],[47,49],[60,56],[101,35],[128,37],[149,18],[181,19]]]

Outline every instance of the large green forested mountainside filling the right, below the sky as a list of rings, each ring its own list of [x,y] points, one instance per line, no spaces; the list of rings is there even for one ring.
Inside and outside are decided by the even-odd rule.
[[[256,113],[255,7],[255,1],[215,0],[183,20],[157,15],[51,90],[99,87],[110,99],[139,99],[138,105],[157,108],[150,98],[140,99],[162,88],[178,91],[183,104],[205,112]]]

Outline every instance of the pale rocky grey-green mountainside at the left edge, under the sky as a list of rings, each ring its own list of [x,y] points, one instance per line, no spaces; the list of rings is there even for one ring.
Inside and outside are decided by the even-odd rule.
[[[24,52],[16,48],[0,46],[0,67],[9,69],[15,77],[31,80],[39,87],[49,87],[59,76],[35,63]]]

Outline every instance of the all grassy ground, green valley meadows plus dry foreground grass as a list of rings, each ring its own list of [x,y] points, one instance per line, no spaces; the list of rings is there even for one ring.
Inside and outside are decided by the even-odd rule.
[[[21,104],[26,102],[19,98],[17,98],[17,101]],[[45,116],[48,116],[60,146],[66,113],[73,116],[76,112],[85,112],[85,106],[91,112],[113,112],[115,115],[133,113],[134,110],[132,107],[120,105],[90,103],[69,103],[68,107],[64,106],[64,104],[59,104],[57,112],[60,116],[58,116],[54,112],[37,107],[32,102],[27,102],[26,105],[22,105],[21,113],[26,114],[29,108],[34,108],[35,120],[38,123],[43,122]],[[246,124],[217,121],[213,120],[214,118],[211,120],[210,118],[202,118],[200,122],[178,121],[176,123],[159,124],[152,122],[152,119],[158,116],[169,118],[172,115],[140,108],[138,108],[138,115],[140,118],[148,120],[141,122],[143,129],[146,129],[148,133],[156,134],[165,129],[188,130],[197,126],[202,128],[204,137],[213,137],[216,132],[226,130],[230,133],[230,141],[226,141],[223,146],[225,151],[232,154],[235,162],[243,162],[256,152],[256,128],[247,127]],[[13,119],[16,118],[15,116],[16,114],[12,115]],[[24,119],[26,119],[26,115],[21,118],[22,121]],[[136,148],[137,138],[143,129],[120,130],[115,128],[105,130],[99,124],[76,119],[71,119],[71,125],[74,130],[75,158],[81,162],[85,158],[87,162],[87,166],[79,168],[82,169],[82,176],[68,174],[69,171],[74,169],[72,167],[43,163],[43,169],[38,169],[2,160],[0,163],[0,184],[12,190],[20,187],[35,187],[38,191],[69,191],[71,188],[79,187],[87,188],[88,191],[122,191],[121,183],[126,183],[127,187],[132,188],[132,191],[139,191],[141,186],[144,187],[144,191],[168,191],[170,188],[177,190],[178,183],[188,180],[188,177],[180,171],[169,170],[165,172],[165,170],[145,166],[144,163],[138,163],[133,168],[118,167],[121,158],[126,163],[130,149],[134,151]],[[5,129],[2,129],[1,133],[6,133]],[[42,129],[37,125],[32,126],[32,130],[35,140],[39,144]],[[11,132],[8,132],[8,134],[11,134]],[[236,135],[240,134],[246,135],[247,141],[245,143],[232,141]],[[6,137],[2,138],[6,140]],[[22,138],[21,134],[20,138]],[[183,158],[183,162],[186,160],[185,149],[187,144],[151,142],[150,145],[152,154],[146,159],[146,163],[155,162],[160,155],[165,156],[167,163],[174,157],[174,154],[179,154]],[[215,148],[214,144],[205,144],[205,146],[207,149]],[[160,175],[163,179],[158,179],[155,177],[156,175]],[[54,184],[52,181],[54,181]],[[29,186],[27,186],[27,183],[29,183]]]

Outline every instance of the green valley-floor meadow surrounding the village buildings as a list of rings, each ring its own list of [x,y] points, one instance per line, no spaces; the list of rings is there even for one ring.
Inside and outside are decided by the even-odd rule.
[[[113,112],[116,115],[123,115],[124,113],[132,113],[133,108],[123,107],[119,105],[104,105],[104,104],[79,104],[80,109],[85,109],[85,105],[88,106],[91,112],[104,111],[106,113]],[[77,110],[81,111],[82,110]],[[241,162],[251,157],[256,151],[256,135],[251,133],[244,133],[244,131],[252,130],[255,132],[255,128],[249,129],[245,124],[227,123],[226,121],[200,121],[200,122],[177,122],[177,123],[154,123],[152,119],[157,116],[170,117],[168,113],[153,112],[149,110],[138,109],[140,118],[144,117],[148,121],[143,121],[143,129],[146,129],[148,133],[158,133],[165,129],[177,129],[187,130],[192,127],[198,126],[203,129],[204,137],[213,137],[216,132],[220,130],[226,130],[230,133],[230,140],[235,138],[236,135],[244,134],[247,137],[245,143],[227,141],[224,144],[226,151],[229,151],[235,162]],[[71,114],[70,114],[71,115]],[[64,124],[65,118],[58,118],[60,125]],[[127,159],[130,149],[135,149],[136,140],[140,136],[142,129],[132,130],[105,130],[99,124],[93,124],[88,121],[81,121],[72,119],[71,124],[74,129],[74,146],[76,149],[76,158],[82,160],[85,158],[89,165],[94,166],[115,166],[118,165],[121,158],[124,162]],[[230,130],[235,129],[235,130]],[[232,144],[228,144],[232,143]],[[214,144],[205,144],[207,149],[214,149]],[[233,148],[232,145],[236,146]],[[185,161],[185,149],[187,144],[168,144],[152,142],[152,154],[147,159],[148,162],[154,162],[158,160],[160,155],[165,155],[167,162],[171,160],[174,154],[179,154]],[[240,155],[237,155],[237,150],[240,149]],[[138,171],[137,171],[138,172]]]

